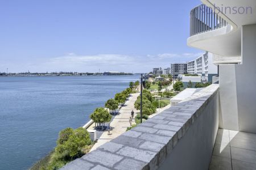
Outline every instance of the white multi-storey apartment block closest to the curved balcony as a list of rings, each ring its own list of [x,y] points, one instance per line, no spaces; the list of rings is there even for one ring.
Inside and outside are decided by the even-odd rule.
[[[217,65],[213,63],[213,54],[205,52],[200,57],[187,62],[188,74],[206,76],[208,82],[212,82],[212,77],[218,74]]]

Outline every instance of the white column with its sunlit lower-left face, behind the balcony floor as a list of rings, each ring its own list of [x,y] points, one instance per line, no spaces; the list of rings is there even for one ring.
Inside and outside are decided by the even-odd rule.
[[[220,128],[256,133],[256,24],[241,38],[241,65],[220,65]]]

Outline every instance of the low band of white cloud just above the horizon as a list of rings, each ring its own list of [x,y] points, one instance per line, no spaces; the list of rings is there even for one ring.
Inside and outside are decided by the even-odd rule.
[[[187,62],[199,57],[201,53],[163,53],[148,54],[144,56],[124,55],[124,54],[96,54],[96,55],[77,55],[67,53],[63,56],[50,59],[39,59],[31,63],[12,63],[13,72],[51,72],[51,71],[78,71],[78,72],[97,72],[101,71],[125,71],[133,73],[146,73],[152,67],[170,67],[173,62]],[[39,62],[40,61],[40,62]]]

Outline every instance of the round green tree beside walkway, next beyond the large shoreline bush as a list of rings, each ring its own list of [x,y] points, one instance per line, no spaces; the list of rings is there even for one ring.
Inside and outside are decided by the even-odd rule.
[[[101,128],[103,128],[105,122],[109,122],[112,116],[108,111],[106,111],[106,109],[97,108],[92,114],[90,114],[90,118],[95,122],[95,124],[98,124],[99,126],[102,126]]]

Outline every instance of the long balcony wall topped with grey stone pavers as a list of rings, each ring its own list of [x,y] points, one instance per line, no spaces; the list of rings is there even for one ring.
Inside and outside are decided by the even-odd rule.
[[[208,169],[218,119],[212,84],[62,169]]]

